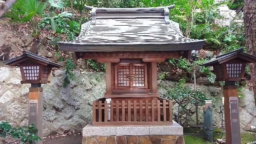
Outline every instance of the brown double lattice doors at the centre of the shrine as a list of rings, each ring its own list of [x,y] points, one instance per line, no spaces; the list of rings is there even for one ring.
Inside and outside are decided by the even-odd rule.
[[[147,88],[146,64],[115,64],[116,89]]]

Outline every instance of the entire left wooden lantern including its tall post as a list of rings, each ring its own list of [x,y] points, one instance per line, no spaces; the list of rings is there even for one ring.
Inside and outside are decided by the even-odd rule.
[[[21,56],[4,63],[9,66],[19,66],[21,83],[31,84],[28,92],[28,125],[34,124],[34,127],[38,129],[37,136],[42,138],[43,88],[41,84],[50,83],[52,68],[60,68],[61,65],[30,52],[22,53]],[[38,140],[34,143],[42,144],[42,141]]]

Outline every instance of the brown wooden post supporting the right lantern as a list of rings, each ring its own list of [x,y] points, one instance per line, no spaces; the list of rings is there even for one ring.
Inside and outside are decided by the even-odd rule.
[[[225,128],[226,128],[226,144],[241,144],[240,136],[240,121],[238,110],[238,90],[234,82],[225,82],[223,88],[224,95],[224,114],[225,114]],[[237,108],[234,108],[234,101],[236,99]],[[230,104],[232,101],[232,104]],[[230,110],[231,109],[231,110]]]

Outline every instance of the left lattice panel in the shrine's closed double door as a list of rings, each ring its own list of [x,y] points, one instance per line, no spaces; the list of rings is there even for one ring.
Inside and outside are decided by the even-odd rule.
[[[130,80],[127,78],[127,75],[130,73],[129,71],[129,66],[117,66],[118,86],[130,86]]]

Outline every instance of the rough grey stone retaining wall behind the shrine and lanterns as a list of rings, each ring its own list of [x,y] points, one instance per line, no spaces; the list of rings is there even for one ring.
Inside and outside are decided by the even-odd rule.
[[[81,131],[92,119],[92,101],[101,98],[105,93],[104,72],[74,71],[75,80],[64,88],[64,70],[55,70],[50,77],[50,84],[42,84],[44,88],[43,135],[63,133],[72,130]],[[13,126],[28,124],[28,88],[30,84],[20,84],[19,68],[0,67],[0,122],[8,121]],[[158,91],[162,96],[175,82],[159,82]],[[188,84],[193,86],[193,84]],[[222,88],[199,85],[198,89],[218,98],[213,111],[214,125],[220,126],[219,106],[222,102]],[[242,128],[256,126],[256,107],[253,92],[242,90],[240,98],[240,125]],[[199,109],[202,122],[202,109]],[[193,114],[190,123],[195,123]]]

